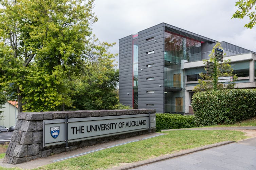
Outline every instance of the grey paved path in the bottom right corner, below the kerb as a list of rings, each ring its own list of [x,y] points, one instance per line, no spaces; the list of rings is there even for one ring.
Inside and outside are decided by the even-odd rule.
[[[132,170],[256,170],[256,137]]]

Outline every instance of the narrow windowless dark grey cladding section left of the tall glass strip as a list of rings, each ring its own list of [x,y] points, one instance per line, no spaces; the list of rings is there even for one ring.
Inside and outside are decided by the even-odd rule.
[[[119,101],[132,105],[132,35],[120,39],[119,46]]]

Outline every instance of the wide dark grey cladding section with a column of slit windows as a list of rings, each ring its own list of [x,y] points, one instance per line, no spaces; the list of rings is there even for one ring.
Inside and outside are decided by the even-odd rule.
[[[152,41],[146,39],[154,37]],[[164,107],[164,26],[162,24],[150,27],[138,32],[139,61],[138,61],[138,94],[139,108],[156,108],[163,113]],[[146,52],[154,50],[152,54]],[[146,67],[147,64],[154,64],[153,67]],[[141,70],[143,69],[143,70]],[[147,80],[147,77],[154,77],[154,80]],[[161,87],[159,87],[161,85]],[[153,90],[156,93],[147,94],[146,91]],[[141,96],[143,94],[143,96]],[[146,104],[154,104],[148,107]]]

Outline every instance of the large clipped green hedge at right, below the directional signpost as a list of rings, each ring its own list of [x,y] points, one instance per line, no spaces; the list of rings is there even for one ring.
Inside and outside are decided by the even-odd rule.
[[[191,105],[198,126],[233,124],[256,116],[256,89],[198,92]]]

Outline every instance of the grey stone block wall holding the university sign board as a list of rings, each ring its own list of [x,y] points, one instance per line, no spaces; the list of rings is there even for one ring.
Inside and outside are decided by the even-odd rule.
[[[65,112],[34,112],[19,113],[15,130],[11,137],[11,141],[6,150],[3,163],[19,164],[22,162],[47,157],[51,154],[58,154],[75,150],[77,148],[91,146],[99,143],[105,143],[118,139],[125,139],[132,136],[143,135],[148,132],[154,132],[155,129],[126,133],[122,135],[114,135],[104,138],[91,139],[86,141],[69,143],[66,148],[65,144],[49,146],[43,148],[43,120],[64,119],[68,118],[85,118],[99,116],[115,116],[115,115],[135,115],[156,113],[153,109],[132,109],[132,110],[97,110],[97,111],[65,111]]]

